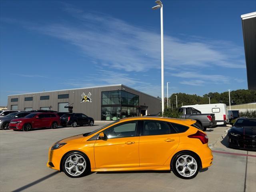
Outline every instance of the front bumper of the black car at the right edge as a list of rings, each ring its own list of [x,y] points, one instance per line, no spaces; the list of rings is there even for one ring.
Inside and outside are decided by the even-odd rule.
[[[229,134],[228,146],[245,150],[256,150],[256,138],[236,137]]]

